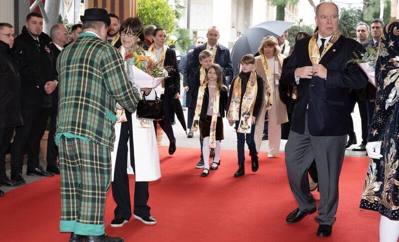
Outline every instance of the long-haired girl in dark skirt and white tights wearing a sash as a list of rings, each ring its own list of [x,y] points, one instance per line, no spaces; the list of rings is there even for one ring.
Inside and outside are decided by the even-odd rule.
[[[218,64],[210,64],[206,69],[203,83],[198,90],[197,106],[191,131],[200,128],[203,139],[202,154],[204,168],[201,176],[209,174],[209,149],[214,149],[211,170],[216,170],[220,165],[220,141],[223,137],[224,111],[227,107],[227,90],[223,85],[223,72]]]

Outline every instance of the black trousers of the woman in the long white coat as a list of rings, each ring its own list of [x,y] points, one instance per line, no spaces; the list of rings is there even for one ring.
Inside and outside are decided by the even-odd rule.
[[[125,110],[126,111],[126,110]],[[121,135],[119,137],[118,151],[116,155],[114,181],[112,186],[112,197],[115,200],[116,208],[114,210],[115,218],[123,218],[129,220],[132,217],[132,209],[130,205],[129,177],[126,172],[128,162],[128,140],[133,141],[132,133],[132,115],[126,112],[127,122],[121,125]],[[130,143],[130,164],[133,171],[135,169],[134,144]],[[148,182],[135,182],[134,189],[134,211],[133,213],[140,217],[150,216],[150,206],[147,205],[148,198]]]

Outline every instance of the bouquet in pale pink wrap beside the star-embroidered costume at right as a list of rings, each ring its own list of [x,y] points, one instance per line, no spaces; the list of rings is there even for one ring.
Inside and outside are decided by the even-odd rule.
[[[366,73],[367,77],[369,78],[369,82],[373,84],[373,86],[377,87],[376,85],[376,61],[377,61],[377,50],[374,48],[366,48],[366,52],[360,53],[358,55],[354,52],[355,58],[350,59],[347,64],[349,63],[356,63],[360,69]]]

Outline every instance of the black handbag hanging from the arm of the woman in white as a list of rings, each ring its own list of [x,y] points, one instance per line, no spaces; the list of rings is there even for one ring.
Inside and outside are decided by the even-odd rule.
[[[143,95],[143,99],[140,99],[137,104],[137,117],[157,121],[164,119],[164,101],[158,98],[157,92],[155,92],[155,100],[146,100],[146,95]]]

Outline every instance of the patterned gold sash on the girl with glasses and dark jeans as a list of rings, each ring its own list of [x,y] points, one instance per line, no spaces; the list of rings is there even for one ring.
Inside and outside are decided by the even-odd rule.
[[[241,99],[241,78],[237,76],[234,81],[234,87],[231,94],[231,101],[229,104],[227,119],[239,120],[238,133],[249,134],[252,128],[252,112],[255,106],[256,92],[258,90],[257,79],[255,71],[251,71],[248,83],[246,85],[244,96],[241,102],[241,117],[239,117],[240,99]]]

